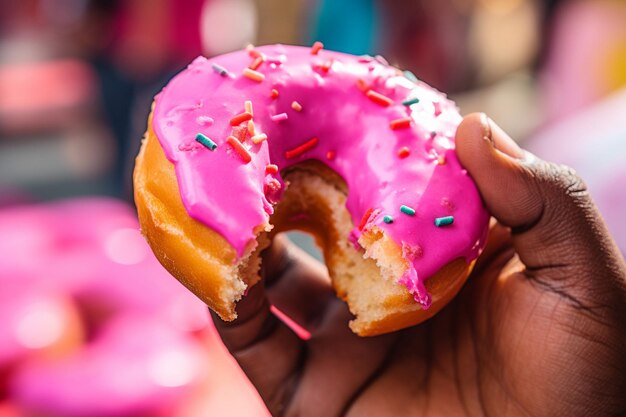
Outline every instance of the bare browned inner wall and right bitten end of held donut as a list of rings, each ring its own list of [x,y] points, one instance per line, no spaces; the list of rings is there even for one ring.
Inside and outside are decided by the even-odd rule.
[[[243,260],[241,267],[251,270],[242,276],[255,276],[256,281],[253,270],[270,239],[280,232],[301,230],[313,235],[322,249],[333,287],[356,317],[350,322],[353,331],[373,335],[414,324],[414,313],[421,307],[397,283],[407,269],[402,249],[376,228],[364,231],[358,244],[346,238],[355,226],[346,209],[349,190],[341,177],[314,160],[292,166],[282,175],[287,187],[270,219],[273,228],[260,236],[257,250]],[[454,285],[466,268],[463,259],[454,261],[427,281],[427,289]],[[452,290],[456,293],[458,288]],[[439,292],[433,301],[441,302]],[[432,314],[436,310],[437,306]]]

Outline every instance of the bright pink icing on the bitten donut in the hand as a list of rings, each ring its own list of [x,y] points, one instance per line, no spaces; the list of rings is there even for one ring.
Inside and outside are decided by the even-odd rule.
[[[347,183],[346,206],[353,224],[359,225],[368,209],[374,209],[364,229],[376,226],[403,247],[409,268],[399,282],[428,308],[425,279],[454,259],[475,259],[489,220],[454,152],[461,121],[454,103],[380,59],[326,50],[313,55],[310,48],[283,45],[256,51],[267,57],[257,69],[265,76],[261,81],[242,75],[254,60],[246,51],[210,60],[199,57],[156,97],[153,126],[175,164],[189,215],[219,232],[242,256],[253,245],[255,229],[268,224],[272,204],[280,198],[276,180],[284,186],[280,172],[266,174],[265,167],[271,163],[284,169],[319,160]],[[213,63],[228,74],[220,75]],[[393,104],[371,99],[363,84]],[[272,97],[272,89],[278,97]],[[418,98],[419,103],[403,105],[407,98]],[[249,163],[226,143],[233,134],[229,121],[244,112],[246,100],[253,104],[256,131],[268,136],[259,144],[244,140],[252,155]],[[294,101],[301,111],[292,108]],[[275,121],[282,113],[288,118]],[[409,127],[390,128],[392,120],[407,116],[412,118]],[[214,123],[198,123],[203,117]],[[212,139],[217,149],[191,146],[198,133]],[[311,149],[286,158],[287,151],[312,138],[319,141]],[[400,158],[403,147],[410,153]],[[401,205],[416,214],[402,213]],[[385,223],[385,215],[393,222]],[[449,215],[454,216],[452,225],[435,226],[435,218]],[[351,239],[358,242],[361,234],[355,227]]]

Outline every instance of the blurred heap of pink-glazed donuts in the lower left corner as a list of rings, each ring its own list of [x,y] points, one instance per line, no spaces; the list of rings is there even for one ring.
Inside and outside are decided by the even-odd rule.
[[[25,416],[265,416],[124,203],[0,210],[0,398]],[[210,410],[210,411],[209,411]]]

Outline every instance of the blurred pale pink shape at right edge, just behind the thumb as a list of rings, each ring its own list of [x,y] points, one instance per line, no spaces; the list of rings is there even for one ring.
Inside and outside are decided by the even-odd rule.
[[[566,164],[585,180],[626,256],[626,89],[543,129],[528,142],[541,158]]]

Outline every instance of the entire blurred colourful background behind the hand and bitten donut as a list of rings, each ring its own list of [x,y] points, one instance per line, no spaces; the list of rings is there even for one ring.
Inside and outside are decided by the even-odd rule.
[[[143,242],[131,172],[194,57],[315,40],[576,168],[626,253],[624,1],[1,0],[0,416],[266,414]]]

